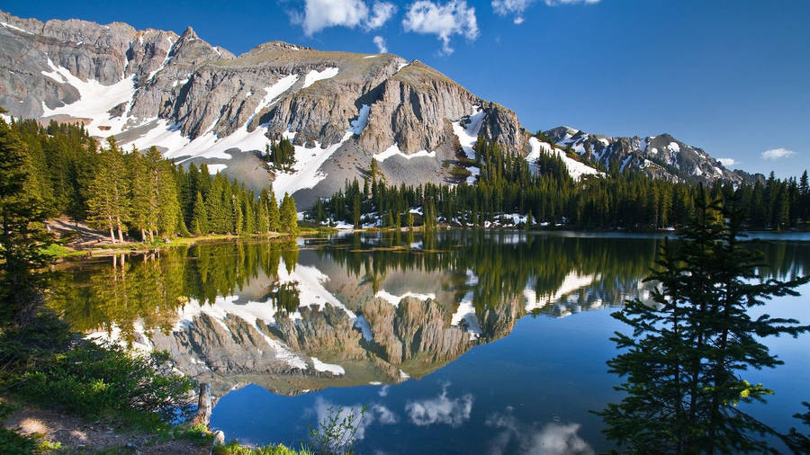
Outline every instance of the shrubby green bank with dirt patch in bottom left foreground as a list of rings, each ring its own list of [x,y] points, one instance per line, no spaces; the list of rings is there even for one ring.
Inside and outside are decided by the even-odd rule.
[[[166,352],[133,354],[69,332],[48,309],[0,324],[0,453],[210,453],[193,412],[192,379]],[[75,437],[81,434],[81,438]],[[284,446],[220,445],[223,454],[297,454]],[[308,453],[302,451],[301,453]]]

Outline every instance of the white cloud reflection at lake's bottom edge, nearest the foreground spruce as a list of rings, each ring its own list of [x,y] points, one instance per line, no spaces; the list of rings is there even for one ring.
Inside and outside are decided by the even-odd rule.
[[[576,453],[591,455],[594,453],[588,442],[585,442],[577,432],[580,424],[545,424],[538,428],[537,424],[523,424],[511,414],[490,415],[486,425],[500,428],[503,431],[490,442],[489,453],[500,455],[515,451],[518,453],[531,453],[536,455],[563,455]]]

